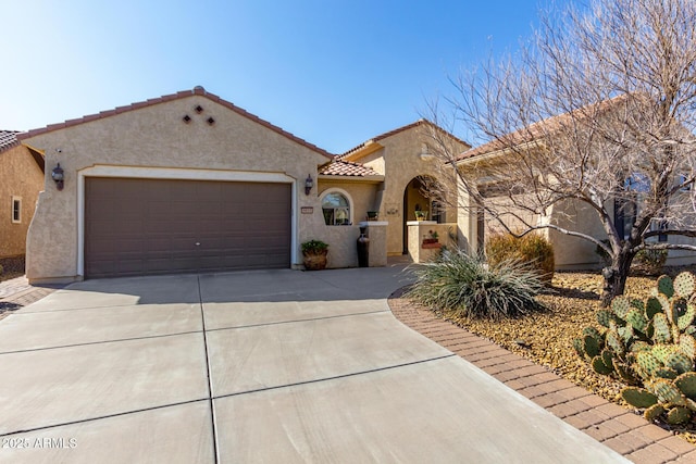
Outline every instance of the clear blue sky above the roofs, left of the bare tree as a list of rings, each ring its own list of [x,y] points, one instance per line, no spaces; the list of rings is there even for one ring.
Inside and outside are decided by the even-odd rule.
[[[340,153],[419,120],[427,99],[451,93],[448,76],[460,67],[514,50],[542,4],[0,0],[0,128],[42,127],[201,85]]]

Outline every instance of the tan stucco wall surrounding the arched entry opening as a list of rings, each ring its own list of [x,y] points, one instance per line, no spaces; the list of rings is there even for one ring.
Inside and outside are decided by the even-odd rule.
[[[387,226],[387,252],[390,255],[403,252],[403,223],[414,218],[412,208],[403,206],[403,192],[408,184],[418,176],[431,176],[442,179],[442,167],[435,158],[423,160],[423,142],[427,141],[427,135],[423,128],[413,128],[399,131],[393,136],[380,140],[384,148],[361,160],[360,163],[370,165],[375,171],[384,170],[384,193],[380,204],[380,220],[388,221]],[[465,146],[462,143],[461,149]],[[383,163],[383,166],[381,165]],[[378,171],[380,172],[380,171]],[[451,200],[451,205],[447,209],[447,220],[455,221],[457,217],[456,198]],[[425,209],[425,208],[424,208]],[[430,206],[427,208],[430,210]]]

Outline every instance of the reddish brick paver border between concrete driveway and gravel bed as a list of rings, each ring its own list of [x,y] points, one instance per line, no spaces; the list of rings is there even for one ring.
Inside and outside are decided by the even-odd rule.
[[[433,312],[401,298],[388,299],[394,315],[413,330],[460,355],[636,464],[696,463],[696,447],[575,384]]]

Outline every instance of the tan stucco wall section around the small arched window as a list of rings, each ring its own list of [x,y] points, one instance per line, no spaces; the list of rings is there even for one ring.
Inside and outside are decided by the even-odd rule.
[[[328,191],[339,191],[347,193],[351,201],[352,225],[350,226],[327,226],[322,225],[313,229],[315,236],[310,239],[319,239],[328,243],[328,267],[355,267],[358,265],[357,240],[360,237],[359,223],[365,221],[368,211],[374,208],[375,196],[378,184],[351,181],[343,178],[320,179],[318,198],[321,213],[322,193]]]

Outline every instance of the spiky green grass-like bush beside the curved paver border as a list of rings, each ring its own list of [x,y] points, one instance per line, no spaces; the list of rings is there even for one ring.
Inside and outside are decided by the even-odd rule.
[[[512,261],[494,268],[482,256],[453,250],[414,273],[407,297],[455,317],[500,319],[543,308],[534,300],[544,287],[537,274]]]

